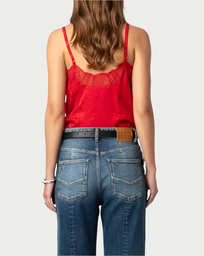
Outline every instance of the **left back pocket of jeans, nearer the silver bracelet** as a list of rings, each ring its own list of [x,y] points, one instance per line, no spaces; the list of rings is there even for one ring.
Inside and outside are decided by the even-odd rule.
[[[59,161],[58,197],[71,202],[86,196],[89,159]]]

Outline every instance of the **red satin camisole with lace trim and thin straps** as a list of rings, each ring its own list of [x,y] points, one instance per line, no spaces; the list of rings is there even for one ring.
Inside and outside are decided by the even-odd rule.
[[[67,128],[135,128],[132,104],[132,66],[127,62],[127,36],[125,27],[124,60],[110,72],[92,74],[76,65],[69,47],[65,27],[64,39],[72,59],[67,69],[66,114]]]

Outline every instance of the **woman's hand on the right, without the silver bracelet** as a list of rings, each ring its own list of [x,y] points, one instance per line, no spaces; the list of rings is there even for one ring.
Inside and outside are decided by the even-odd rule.
[[[150,195],[149,195],[149,198],[147,199],[147,204],[146,204],[146,208],[147,208],[148,205],[152,203],[156,194],[158,193],[158,188],[156,184],[156,171],[154,172],[146,171],[145,176],[147,181],[147,189],[150,190]]]

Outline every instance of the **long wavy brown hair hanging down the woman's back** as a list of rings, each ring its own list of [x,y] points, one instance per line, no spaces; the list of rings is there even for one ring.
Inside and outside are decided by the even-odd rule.
[[[89,63],[87,68],[104,70],[106,63],[121,63],[114,58],[114,53],[124,47],[120,29],[121,24],[126,23],[123,9],[124,1],[74,0],[70,42],[75,49],[77,44],[80,47]]]

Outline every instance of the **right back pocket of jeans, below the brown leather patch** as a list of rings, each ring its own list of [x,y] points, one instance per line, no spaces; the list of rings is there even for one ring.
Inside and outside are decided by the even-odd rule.
[[[142,196],[140,159],[107,159],[110,167],[112,192],[127,201]]]

